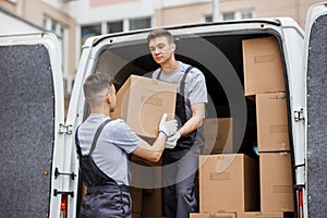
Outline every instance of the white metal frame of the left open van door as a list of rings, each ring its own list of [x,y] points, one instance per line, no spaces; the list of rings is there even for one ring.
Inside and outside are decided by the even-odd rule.
[[[52,99],[55,101],[55,114],[51,118],[55,121],[55,138],[52,140],[52,159],[49,164],[51,164],[51,173],[48,171],[45,171],[45,177],[51,177],[50,182],[50,193],[34,193],[35,197],[37,197],[40,194],[47,194],[47,198],[50,199],[49,205],[49,217],[59,217],[60,213],[60,201],[61,196],[55,196],[53,191],[55,190],[62,190],[62,186],[64,184],[64,181],[61,177],[58,177],[55,179],[55,168],[58,168],[59,171],[63,169],[64,162],[63,162],[63,154],[64,154],[64,134],[60,134],[60,125],[64,123],[64,101],[63,101],[63,78],[62,78],[62,70],[61,70],[61,57],[59,52],[59,44],[58,39],[53,34],[49,33],[36,33],[36,34],[24,34],[24,35],[9,35],[9,36],[0,36],[0,46],[44,46],[46,47],[49,59],[50,59],[50,71],[52,72],[52,84],[53,84],[53,94]],[[26,53],[28,51],[25,51]],[[4,72],[3,72],[4,73]],[[37,81],[38,78],[31,78]],[[17,87],[21,88],[21,87]],[[29,102],[25,102],[28,105]],[[25,114],[22,112],[22,114]],[[43,122],[41,120],[39,122]],[[35,128],[35,131],[38,131],[38,126]],[[43,145],[44,146],[44,145]],[[27,157],[28,158],[28,157]],[[17,168],[20,166],[16,166]],[[24,168],[24,166],[21,166]],[[43,170],[43,169],[37,169]],[[25,181],[28,183],[28,180]],[[34,184],[38,185],[38,184]],[[11,187],[8,187],[11,189]],[[22,186],[23,189],[23,186]],[[25,190],[26,192],[29,192],[31,190]],[[34,202],[34,199],[31,199]],[[31,209],[33,211],[33,209]],[[28,213],[31,213],[28,211]],[[34,217],[37,217],[35,215]]]

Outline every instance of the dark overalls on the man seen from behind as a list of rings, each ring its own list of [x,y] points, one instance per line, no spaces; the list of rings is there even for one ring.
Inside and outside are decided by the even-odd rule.
[[[119,185],[113,179],[105,174],[94,162],[92,154],[104,126],[111,120],[102,122],[96,131],[89,149],[89,154],[83,156],[77,137],[75,142],[80,156],[80,169],[82,181],[87,186],[84,196],[80,218],[130,218],[131,195],[126,185]]]

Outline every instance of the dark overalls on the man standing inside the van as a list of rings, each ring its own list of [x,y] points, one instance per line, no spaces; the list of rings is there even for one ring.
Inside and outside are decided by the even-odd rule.
[[[175,114],[181,125],[187,121],[184,88],[185,78],[191,69],[192,66],[186,69],[181,80],[180,93],[177,94]],[[158,73],[158,80],[161,71]],[[162,168],[164,199],[167,218],[189,218],[190,213],[198,211],[194,184],[202,142],[201,133],[195,130],[185,136],[181,136],[173,149],[164,150],[162,166],[170,165],[169,168]],[[175,183],[171,183],[171,181],[175,181]]]

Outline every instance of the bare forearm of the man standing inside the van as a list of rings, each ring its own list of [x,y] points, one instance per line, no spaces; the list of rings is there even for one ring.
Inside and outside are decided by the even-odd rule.
[[[184,123],[184,125],[179,130],[182,136],[197,130],[203,122],[205,114],[205,104],[194,104],[191,106],[192,117]]]

